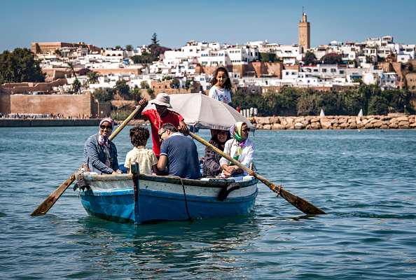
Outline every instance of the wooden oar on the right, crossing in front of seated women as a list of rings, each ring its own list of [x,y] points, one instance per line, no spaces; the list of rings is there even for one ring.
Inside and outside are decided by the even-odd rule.
[[[268,181],[268,179],[265,179],[262,176],[258,175],[257,173],[254,173],[253,170],[251,170],[248,167],[242,165],[240,162],[238,162],[237,160],[231,158],[226,153],[223,153],[223,151],[219,150],[218,148],[215,148],[214,146],[212,146],[211,144],[209,144],[204,139],[198,137],[197,135],[193,134],[192,132],[189,132],[189,134],[190,134],[190,137],[192,137],[196,141],[200,142],[204,146],[207,146],[210,150],[218,153],[223,158],[226,158],[230,162],[233,162],[233,164],[234,165],[237,165],[237,167],[240,167],[245,172],[251,174],[252,176],[256,177],[258,180],[260,180],[263,183],[265,183],[265,185],[268,186],[270,188],[270,190],[274,191],[275,193],[277,193],[279,195],[282,195],[282,197],[285,200],[287,200],[290,204],[292,204],[294,207],[296,207],[297,209],[299,209],[303,213],[305,213],[307,215],[326,214],[324,211],[322,211],[318,207],[314,206],[314,204],[312,204],[310,202],[307,202],[306,200],[304,200],[301,197],[298,197],[297,195],[293,195],[293,193],[288,192],[287,190],[285,190],[284,188],[282,188],[280,186],[275,186],[275,184],[273,184],[272,182]]]

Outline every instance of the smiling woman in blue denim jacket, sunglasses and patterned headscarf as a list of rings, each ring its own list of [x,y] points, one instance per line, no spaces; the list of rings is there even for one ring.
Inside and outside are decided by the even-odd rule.
[[[84,162],[92,172],[98,174],[123,174],[118,167],[116,145],[109,140],[114,128],[111,118],[99,122],[99,132],[85,142]]]

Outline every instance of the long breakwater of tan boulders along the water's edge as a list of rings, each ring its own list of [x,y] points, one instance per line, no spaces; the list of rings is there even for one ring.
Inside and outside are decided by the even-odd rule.
[[[415,115],[411,116],[305,116],[258,117],[257,130],[388,130],[416,129]]]

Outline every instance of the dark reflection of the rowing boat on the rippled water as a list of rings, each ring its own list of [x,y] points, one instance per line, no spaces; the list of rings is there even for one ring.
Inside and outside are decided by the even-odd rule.
[[[85,271],[106,269],[121,261],[128,264],[123,270],[141,272],[141,277],[165,273],[190,276],[210,269],[233,272],[232,265],[238,262],[233,252],[254,248],[259,222],[252,215],[136,226],[84,218],[67,237],[74,236],[72,242],[84,247],[76,261]]]

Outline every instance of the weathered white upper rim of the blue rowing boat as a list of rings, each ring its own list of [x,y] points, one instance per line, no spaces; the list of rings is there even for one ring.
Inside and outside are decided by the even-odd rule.
[[[258,179],[256,177],[252,177],[252,179],[247,181],[238,181],[235,182],[233,179],[214,179],[214,180],[193,180],[193,179],[179,179],[178,177],[174,176],[157,176],[157,175],[146,175],[146,174],[137,174],[137,179],[140,181],[155,181],[161,183],[174,183],[176,185],[181,185],[183,182],[184,186],[199,186],[199,187],[207,187],[207,188],[223,188],[230,183],[238,183],[240,188],[249,187],[256,183],[258,183]],[[76,174],[76,180],[84,180],[84,181],[128,181],[133,180],[133,174],[106,174],[106,175],[98,175],[98,174],[89,174],[85,172],[78,172]]]

